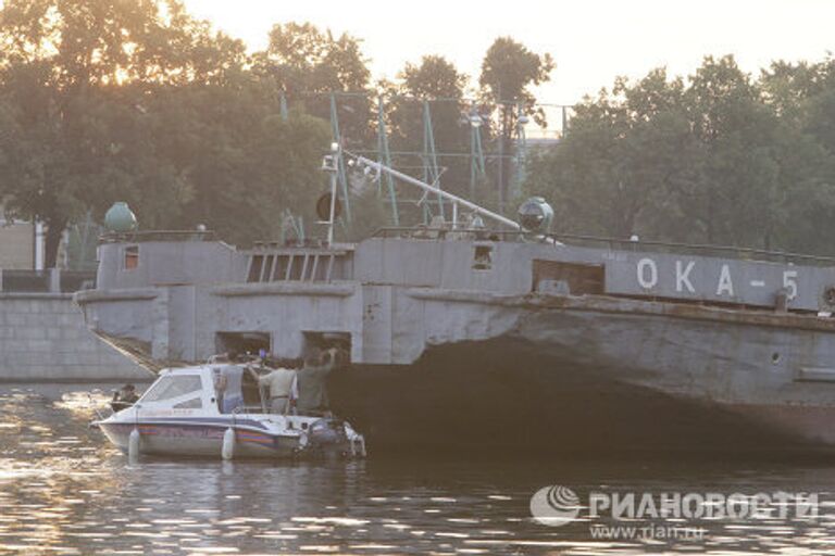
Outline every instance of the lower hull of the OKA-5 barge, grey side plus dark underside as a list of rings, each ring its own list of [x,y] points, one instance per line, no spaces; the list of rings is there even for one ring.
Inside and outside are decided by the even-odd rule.
[[[336,374],[338,412],[383,452],[835,451],[835,383],[801,374],[833,349],[828,321],[602,298],[537,304],[504,338]]]

